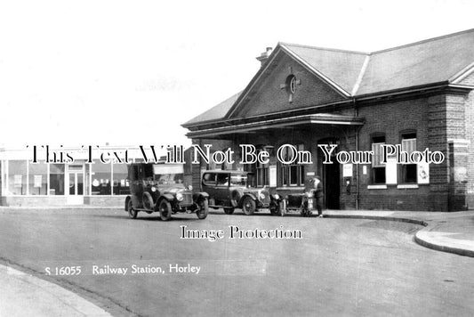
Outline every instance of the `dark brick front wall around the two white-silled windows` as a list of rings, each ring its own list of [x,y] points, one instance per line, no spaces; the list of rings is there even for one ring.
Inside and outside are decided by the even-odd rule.
[[[443,95],[420,97],[400,102],[384,102],[361,107],[359,116],[366,118],[366,124],[359,132],[359,150],[371,150],[371,135],[385,135],[385,142],[399,144],[401,133],[416,131],[418,150],[442,150],[446,154],[446,114]],[[398,165],[398,183],[401,168]],[[446,162],[430,165],[430,184],[418,185],[416,189],[399,189],[397,185],[387,185],[386,189],[369,189],[371,166],[367,173],[359,167],[360,197],[359,207],[363,209],[390,210],[447,210]]]

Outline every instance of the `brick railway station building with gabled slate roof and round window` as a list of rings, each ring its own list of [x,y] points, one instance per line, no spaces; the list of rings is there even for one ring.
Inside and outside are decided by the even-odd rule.
[[[300,192],[321,175],[329,208],[453,211],[474,206],[474,29],[374,53],[279,43],[257,59],[244,91],[182,126],[194,144],[236,150],[250,143],[268,164],[254,185]],[[310,164],[282,164],[283,144],[308,150]],[[318,144],[337,151],[373,150],[368,164],[323,164]],[[379,156],[383,144],[439,151],[440,164],[402,164]],[[288,153],[284,153],[288,154]],[[213,166],[192,166],[194,186]]]

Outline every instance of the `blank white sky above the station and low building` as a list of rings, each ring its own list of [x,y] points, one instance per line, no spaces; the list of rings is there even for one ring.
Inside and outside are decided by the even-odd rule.
[[[373,52],[474,28],[474,1],[0,0],[0,144],[189,145],[278,42]]]

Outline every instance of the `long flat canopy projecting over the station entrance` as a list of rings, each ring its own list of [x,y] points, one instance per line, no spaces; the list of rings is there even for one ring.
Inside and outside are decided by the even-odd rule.
[[[217,126],[199,131],[191,131],[186,134],[189,138],[213,139],[222,134],[252,133],[277,127],[301,126],[301,125],[336,125],[336,126],[362,126],[364,119],[352,116],[334,115],[329,113],[318,113],[313,115],[302,115],[289,118],[277,118],[252,123]]]

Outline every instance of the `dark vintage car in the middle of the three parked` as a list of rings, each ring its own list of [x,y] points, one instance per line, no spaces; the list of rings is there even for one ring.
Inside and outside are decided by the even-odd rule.
[[[279,207],[275,197],[265,188],[250,188],[248,176],[241,171],[205,171],[202,186],[203,191],[209,194],[209,206],[223,208],[228,215],[234,213],[235,208],[242,208],[245,215],[253,215],[262,208],[277,214]]]

